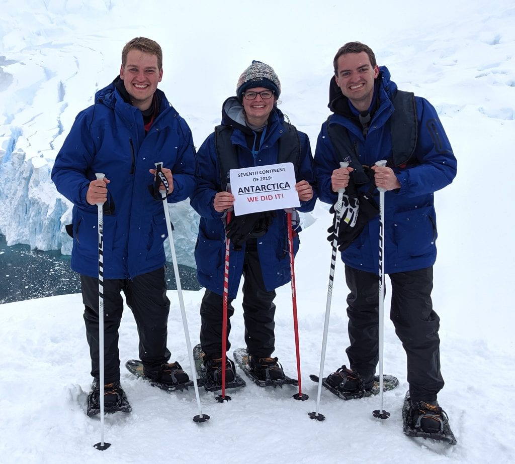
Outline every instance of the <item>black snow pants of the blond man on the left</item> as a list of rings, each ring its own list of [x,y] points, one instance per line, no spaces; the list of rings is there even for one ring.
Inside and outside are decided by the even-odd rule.
[[[91,375],[100,378],[98,342],[98,278],[80,276],[86,337],[90,346]],[[125,294],[140,337],[140,359],[145,373],[160,370],[170,359],[166,348],[170,301],[166,296],[164,267],[131,279],[104,279],[104,381],[120,380],[118,328]]]

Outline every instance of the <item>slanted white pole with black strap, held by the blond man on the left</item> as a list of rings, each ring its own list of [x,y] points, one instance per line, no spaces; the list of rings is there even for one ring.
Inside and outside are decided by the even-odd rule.
[[[175,254],[175,245],[174,245],[174,236],[173,229],[171,228],[170,222],[170,212],[168,211],[168,203],[166,201],[166,197],[168,195],[168,181],[166,176],[163,174],[161,168],[163,167],[163,163],[156,163],[156,175],[159,176],[162,184],[165,186],[166,190],[161,190],[161,198],[163,199],[163,208],[164,215],[166,218],[166,228],[168,230],[168,240],[170,242],[170,252],[171,259],[174,264],[174,274],[175,274],[175,282],[177,285],[177,294],[179,296],[179,307],[181,308],[181,317],[182,317],[182,325],[184,327],[184,337],[186,338],[186,349],[188,351],[188,356],[190,358],[190,367],[192,370],[193,377],[193,386],[195,389],[195,397],[197,398],[197,406],[198,406],[198,415],[193,417],[194,422],[205,422],[210,419],[207,414],[202,414],[202,407],[200,404],[200,396],[198,392],[198,384],[197,384],[197,374],[195,369],[195,362],[193,360],[193,351],[190,341],[190,331],[188,330],[188,322],[186,320],[186,311],[184,310],[184,300],[182,299],[182,287],[181,287],[181,278],[179,276],[179,266],[177,265],[177,256]]]

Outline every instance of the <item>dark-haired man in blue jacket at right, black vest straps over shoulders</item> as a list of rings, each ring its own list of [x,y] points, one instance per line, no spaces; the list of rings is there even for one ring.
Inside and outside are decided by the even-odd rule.
[[[322,124],[314,159],[323,202],[334,204],[337,191],[346,189],[346,221],[342,220],[337,239],[350,290],[350,369],[342,366],[327,381],[351,393],[373,385],[379,361],[375,187],[382,188],[384,272],[391,281],[390,318],[406,350],[410,416],[422,431],[438,431],[445,419],[437,403],[443,379],[439,317],[431,301],[437,237],[434,192],[454,179],[456,158],[433,106],[398,91],[368,46],[342,46],[334,58],[334,72],[329,104],[334,114]],[[387,165],[375,166],[382,159]],[[340,162],[349,166],[341,168]]]

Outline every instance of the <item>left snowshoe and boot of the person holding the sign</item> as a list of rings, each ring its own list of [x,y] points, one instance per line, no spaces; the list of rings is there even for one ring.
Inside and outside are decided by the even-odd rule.
[[[204,362],[204,352],[200,344],[193,348],[193,359],[195,360],[195,368],[199,377],[204,383],[204,388],[207,391],[218,391],[222,389],[221,373],[222,363],[221,359],[206,360]],[[243,380],[237,373],[234,362],[226,358],[226,388],[244,387],[245,380]]]

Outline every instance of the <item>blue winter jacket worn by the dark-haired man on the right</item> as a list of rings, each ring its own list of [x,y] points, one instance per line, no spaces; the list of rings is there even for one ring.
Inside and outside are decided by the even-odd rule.
[[[390,81],[390,73],[384,66],[377,79],[379,106],[366,139],[362,129],[348,117],[335,114],[330,119],[330,124],[347,128],[352,144],[357,146],[359,162],[366,166],[392,157],[389,118],[394,110],[390,97],[397,92],[397,85]],[[449,185],[456,175],[456,158],[435,109],[424,98],[415,97],[415,102],[418,140],[414,159],[406,166],[393,168],[401,188],[385,192],[384,272],[387,274],[424,269],[435,263],[434,192]],[[337,194],[331,189],[331,174],[341,159],[329,138],[327,121],[318,136],[314,161],[320,200],[334,204]],[[362,187],[368,188],[369,185]],[[374,199],[379,204],[377,189]],[[355,269],[379,273],[379,218],[365,226],[361,235],[341,253],[341,259]]]

